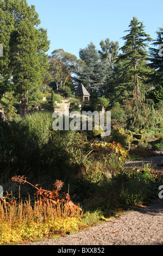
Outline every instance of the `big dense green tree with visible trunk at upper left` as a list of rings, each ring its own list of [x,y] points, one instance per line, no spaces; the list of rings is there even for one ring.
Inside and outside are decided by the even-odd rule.
[[[11,89],[20,95],[24,117],[27,113],[29,93],[41,86],[47,72],[47,31],[37,28],[40,24],[39,15],[34,5],[29,7],[26,0],[0,0],[0,7],[0,29],[4,44],[1,75],[10,77]],[[4,70],[7,70],[7,74]]]

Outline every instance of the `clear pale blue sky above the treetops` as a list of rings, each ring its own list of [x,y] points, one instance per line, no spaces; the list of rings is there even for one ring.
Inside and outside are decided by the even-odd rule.
[[[155,32],[163,27],[162,0],[27,0],[35,5],[51,40],[51,54],[62,48],[79,58],[80,48],[92,41],[98,50],[99,42],[109,38],[123,46],[122,36],[133,17],[143,22],[145,32],[156,39]]]

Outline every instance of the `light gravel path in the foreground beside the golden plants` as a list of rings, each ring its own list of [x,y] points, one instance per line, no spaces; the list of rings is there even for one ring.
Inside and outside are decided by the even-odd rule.
[[[128,210],[109,222],[58,239],[28,245],[163,245],[163,199]]]

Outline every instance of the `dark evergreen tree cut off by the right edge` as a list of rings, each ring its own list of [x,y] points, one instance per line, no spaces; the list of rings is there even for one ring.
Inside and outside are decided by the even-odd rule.
[[[149,83],[154,89],[148,95],[155,103],[159,103],[163,99],[163,28],[159,28],[156,34],[157,38],[152,44],[154,47],[149,48],[149,67],[153,69],[149,74]]]

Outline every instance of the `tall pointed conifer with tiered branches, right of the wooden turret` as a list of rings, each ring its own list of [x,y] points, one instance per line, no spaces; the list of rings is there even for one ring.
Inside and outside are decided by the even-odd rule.
[[[133,17],[129,25],[129,32],[123,39],[124,46],[120,48],[122,54],[118,60],[126,60],[124,63],[124,75],[130,76],[129,86],[133,87],[135,98],[139,97],[140,84],[145,83],[146,76],[151,69],[147,66],[148,53],[146,47],[152,39],[145,33],[142,22]]]

